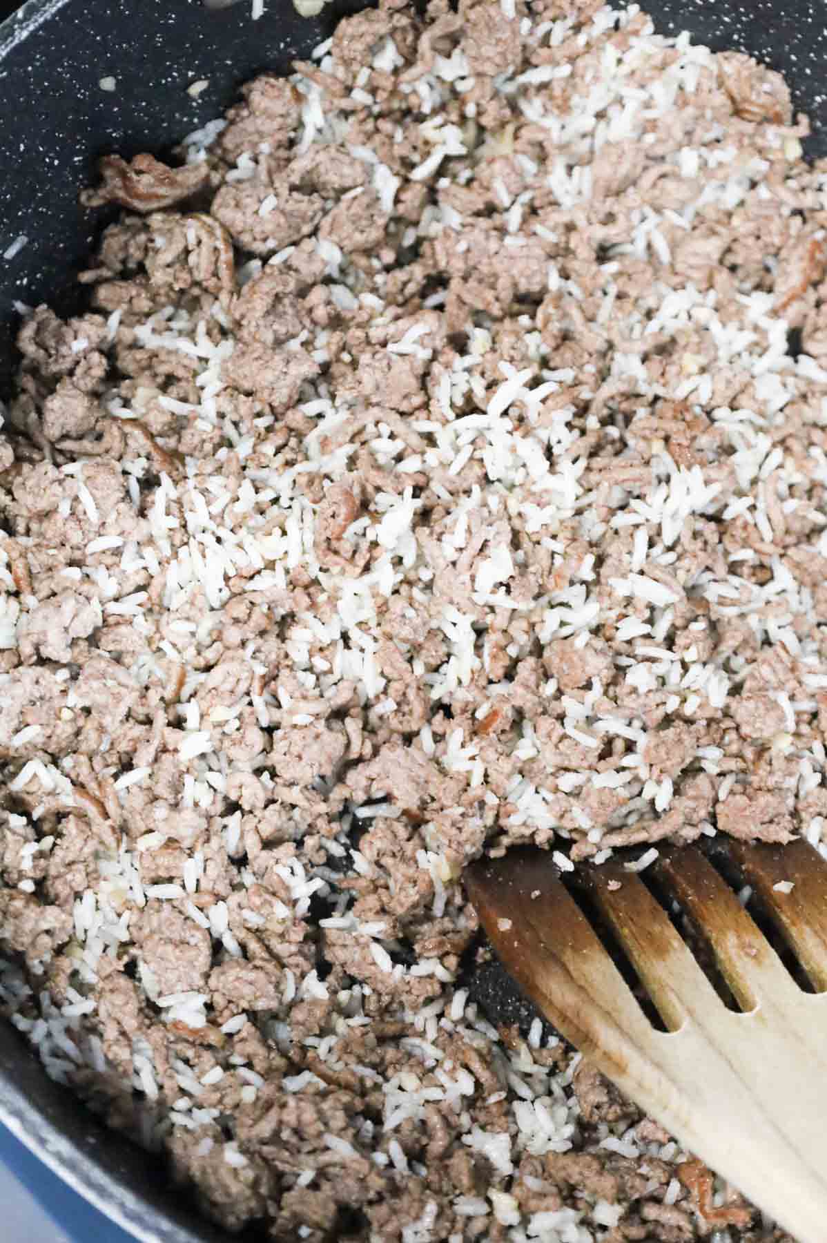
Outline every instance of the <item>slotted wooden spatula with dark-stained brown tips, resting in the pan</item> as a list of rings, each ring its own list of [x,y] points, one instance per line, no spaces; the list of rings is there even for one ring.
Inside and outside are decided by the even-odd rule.
[[[581,868],[576,884],[548,853],[513,850],[474,865],[467,884],[504,967],[558,1030],[801,1243],[826,1243],[827,864],[805,842],[733,844],[729,856],[815,993],[694,846],[662,851],[644,876],[615,863]],[[590,919],[611,929],[667,1030],[646,1017]]]

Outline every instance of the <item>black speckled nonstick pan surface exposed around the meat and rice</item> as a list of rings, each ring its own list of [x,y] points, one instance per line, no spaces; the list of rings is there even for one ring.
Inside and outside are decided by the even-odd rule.
[[[238,86],[263,68],[286,70],[330,34],[360,0],[335,0],[319,19],[291,0],[250,0],[207,10],[201,0],[30,0],[0,26],[0,398],[7,395],[17,327],[14,302],[77,306],[75,272],[107,221],[83,214],[79,186],[96,158],[163,152],[220,116]],[[827,10],[807,0],[651,0],[659,31],[689,30],[715,50],[750,52],[781,70],[810,113],[808,157],[827,154]],[[102,77],[115,91],[102,91]],[[186,87],[207,78],[197,99]],[[495,963],[464,981],[493,1022],[524,1023],[528,1003]],[[127,1229],[155,1243],[230,1243],[202,1222],[165,1171],[104,1130],[46,1078],[17,1033],[0,1024],[0,1120],[77,1191]],[[253,1243],[255,1234],[232,1236]]]

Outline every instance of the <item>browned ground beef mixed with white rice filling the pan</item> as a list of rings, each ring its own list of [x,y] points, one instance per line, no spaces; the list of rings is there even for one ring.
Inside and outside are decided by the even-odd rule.
[[[827,173],[637,6],[389,0],[38,307],[5,1012],[230,1229],[780,1239],[463,984],[464,864],[827,815]]]

